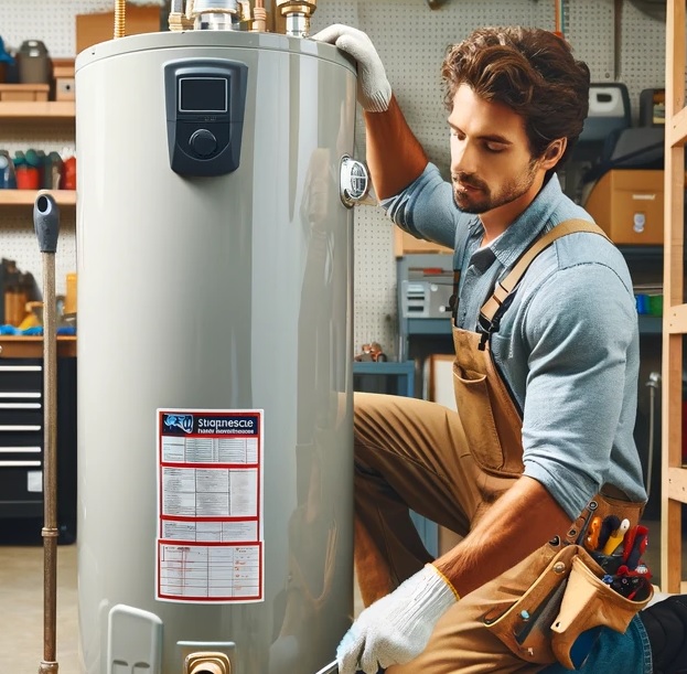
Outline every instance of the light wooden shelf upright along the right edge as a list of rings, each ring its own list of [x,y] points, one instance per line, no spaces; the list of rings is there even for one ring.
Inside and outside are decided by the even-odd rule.
[[[666,13],[665,237],[662,383],[661,585],[666,592],[683,586],[681,511],[687,503],[683,464],[683,342],[687,333],[685,279],[685,0],[668,0]]]

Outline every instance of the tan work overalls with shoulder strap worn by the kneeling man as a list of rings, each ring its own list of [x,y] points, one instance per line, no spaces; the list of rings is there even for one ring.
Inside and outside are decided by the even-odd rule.
[[[558,236],[579,231],[601,233],[583,221],[568,221],[547,233],[484,304],[485,318],[494,317],[538,253]],[[489,342],[480,349],[481,336],[453,328],[453,378],[460,414],[416,398],[355,396],[355,561],[366,605],[431,560],[408,507],[464,536],[523,472],[522,420],[494,367]],[[637,523],[642,509],[642,504],[612,498],[597,498],[594,506],[595,514],[614,513],[627,517],[631,524]],[[528,640],[522,645],[514,642],[513,630],[522,625],[506,625],[511,649],[485,627],[485,620],[514,605],[563,547],[571,553],[577,549],[566,542],[575,541],[573,529],[587,514],[570,532],[561,533],[516,567],[461,598],[438,622],[427,650],[407,665],[390,667],[388,674],[538,672],[555,662],[548,639],[545,645],[539,639],[533,650]],[[616,597],[619,606],[626,602],[620,595]],[[615,607],[618,602],[610,596],[603,597],[602,603]],[[620,612],[626,608],[620,606]],[[622,631],[638,608],[632,607],[616,629]],[[518,606],[518,614],[519,610]],[[591,606],[584,609],[587,614],[594,611]],[[512,618],[509,614],[504,622],[512,622]],[[570,644],[561,645],[567,652]]]

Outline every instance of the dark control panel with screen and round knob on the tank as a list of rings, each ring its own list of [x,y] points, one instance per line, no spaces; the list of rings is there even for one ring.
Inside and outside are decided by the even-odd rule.
[[[172,171],[223,175],[240,162],[248,66],[224,58],[164,65],[167,132]]]

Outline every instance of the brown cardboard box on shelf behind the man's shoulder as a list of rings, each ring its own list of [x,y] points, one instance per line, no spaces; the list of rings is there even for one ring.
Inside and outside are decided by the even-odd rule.
[[[609,171],[584,208],[615,244],[663,245],[663,180],[662,170]]]

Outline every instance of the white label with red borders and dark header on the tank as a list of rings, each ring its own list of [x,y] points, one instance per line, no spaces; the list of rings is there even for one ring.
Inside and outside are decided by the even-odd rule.
[[[158,599],[264,600],[262,416],[158,410]]]

